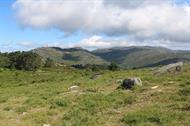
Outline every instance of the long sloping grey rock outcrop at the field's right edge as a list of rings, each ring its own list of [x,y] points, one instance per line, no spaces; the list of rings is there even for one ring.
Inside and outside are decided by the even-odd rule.
[[[173,64],[169,64],[169,65],[161,67],[154,74],[160,75],[164,73],[177,73],[177,72],[181,72],[182,68],[183,68],[183,62],[173,63]]]

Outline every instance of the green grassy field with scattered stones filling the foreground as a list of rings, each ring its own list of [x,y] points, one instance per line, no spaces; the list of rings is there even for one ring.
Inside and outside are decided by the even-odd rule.
[[[190,66],[161,76],[151,69],[101,73],[91,79],[90,70],[0,69],[0,126],[190,125]],[[116,89],[128,77],[140,77],[143,86]],[[80,88],[68,91],[73,85]]]

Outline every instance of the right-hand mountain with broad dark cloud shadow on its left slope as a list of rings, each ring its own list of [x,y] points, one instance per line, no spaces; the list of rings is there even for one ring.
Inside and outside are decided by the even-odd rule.
[[[190,51],[174,51],[163,47],[114,47],[97,49],[92,53],[125,68],[152,67],[178,61],[190,61]]]

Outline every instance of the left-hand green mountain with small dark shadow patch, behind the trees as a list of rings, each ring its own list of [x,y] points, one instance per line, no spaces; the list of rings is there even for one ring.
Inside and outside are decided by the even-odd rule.
[[[51,58],[56,62],[65,64],[108,64],[99,56],[93,55],[88,50],[82,48],[62,49],[59,47],[42,47],[32,50],[44,59]]]

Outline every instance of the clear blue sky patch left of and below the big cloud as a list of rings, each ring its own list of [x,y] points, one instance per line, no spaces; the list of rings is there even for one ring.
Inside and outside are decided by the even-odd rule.
[[[0,51],[29,50],[47,44],[54,45],[56,42],[77,42],[84,37],[81,33],[64,36],[63,32],[54,28],[48,30],[24,28],[16,20],[12,9],[14,2],[14,0],[0,1]]]

